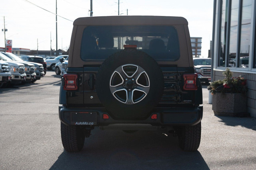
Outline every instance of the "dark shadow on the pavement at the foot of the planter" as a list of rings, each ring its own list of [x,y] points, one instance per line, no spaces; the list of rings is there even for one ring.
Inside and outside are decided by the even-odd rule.
[[[225,123],[227,126],[242,126],[248,129],[256,131],[256,118],[253,117],[227,117],[227,116],[216,116],[222,120],[220,122]]]

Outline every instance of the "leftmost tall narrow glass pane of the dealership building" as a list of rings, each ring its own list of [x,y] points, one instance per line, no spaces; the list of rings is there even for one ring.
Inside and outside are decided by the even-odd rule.
[[[226,61],[226,34],[228,20],[228,1],[221,0],[221,28],[220,28],[220,53],[218,58],[218,66],[225,66]]]

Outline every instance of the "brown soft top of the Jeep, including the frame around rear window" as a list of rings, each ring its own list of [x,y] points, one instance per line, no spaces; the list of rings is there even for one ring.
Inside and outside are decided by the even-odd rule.
[[[68,67],[82,67],[85,64],[102,64],[103,61],[83,61],[80,58],[83,31],[87,26],[106,25],[166,25],[177,30],[180,46],[180,58],[177,61],[157,61],[158,64],[176,64],[179,67],[193,66],[188,21],[183,17],[171,16],[100,16],[78,18],[74,21]]]

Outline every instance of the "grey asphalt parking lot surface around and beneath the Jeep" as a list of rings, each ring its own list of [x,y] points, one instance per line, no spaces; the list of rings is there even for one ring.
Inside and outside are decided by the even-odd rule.
[[[33,84],[0,89],[0,169],[256,169],[256,118],[216,117],[203,85],[201,144],[184,152],[164,131],[102,131],[84,149],[62,147],[60,75],[48,71]]]

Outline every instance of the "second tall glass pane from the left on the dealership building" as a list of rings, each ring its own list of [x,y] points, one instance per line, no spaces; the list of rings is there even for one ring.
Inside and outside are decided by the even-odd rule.
[[[236,67],[238,14],[239,14],[239,0],[232,0],[231,17],[230,17],[229,53],[228,53],[229,67]]]

